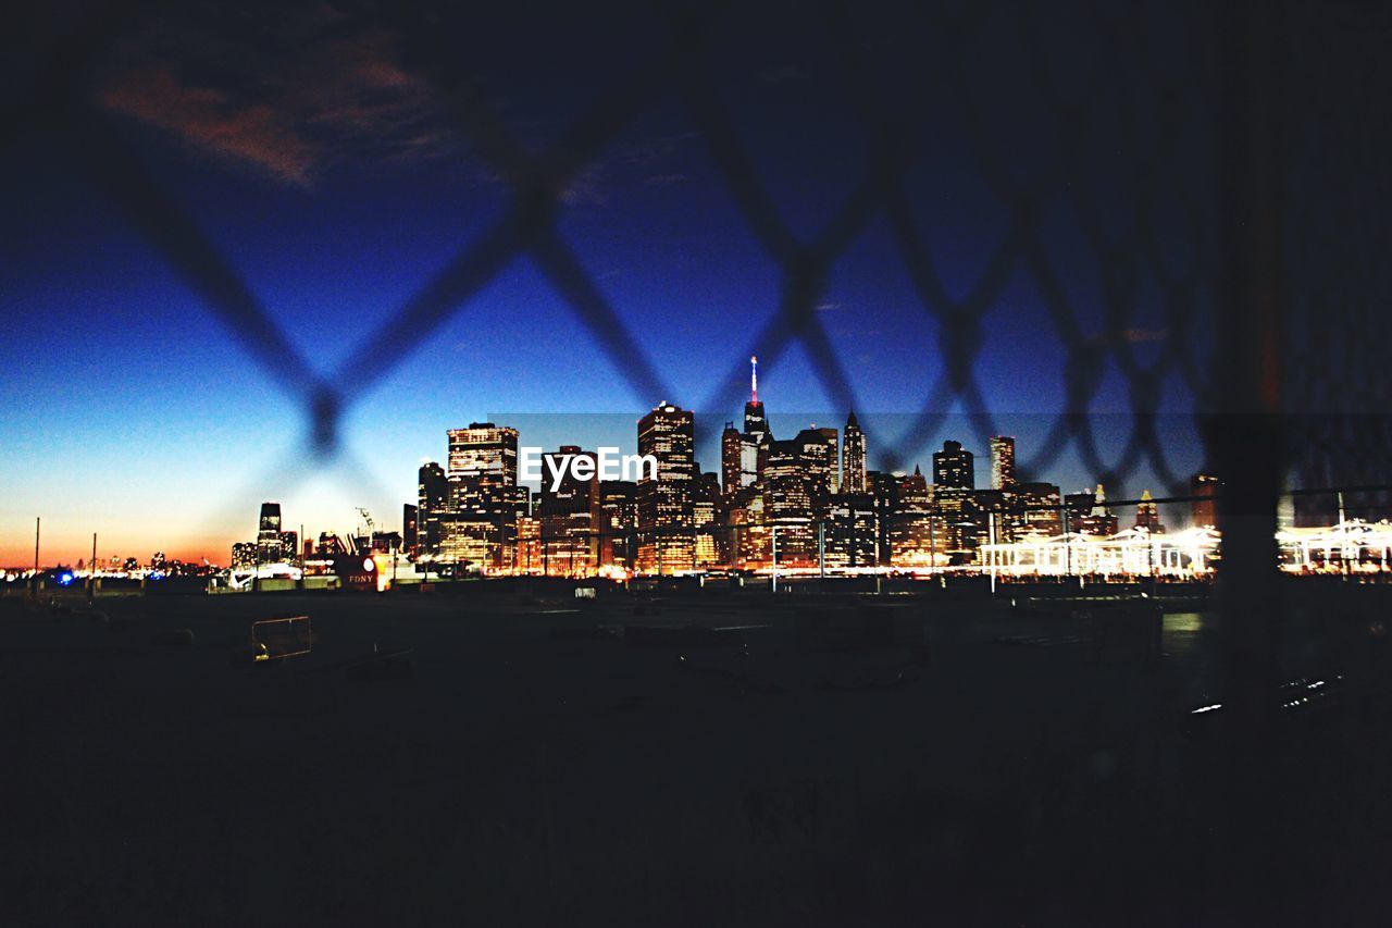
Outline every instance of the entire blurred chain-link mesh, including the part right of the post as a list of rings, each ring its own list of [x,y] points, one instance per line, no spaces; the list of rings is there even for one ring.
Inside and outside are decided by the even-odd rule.
[[[846,252],[881,223],[938,346],[924,358],[933,383],[909,428],[878,435],[867,424],[888,464],[920,456],[954,411],[980,442],[997,433],[983,351],[1004,304],[1023,290],[1048,319],[1065,385],[1057,408],[1034,411],[1051,426],[1022,461],[1025,475],[1073,454],[1102,484],[1146,468],[1183,496],[1189,472],[1157,428],[1182,410],[1200,425],[1208,467],[1253,463],[1218,447],[1232,435],[1224,414],[1289,412],[1267,449],[1272,460],[1257,463],[1272,488],[1285,479],[1288,453],[1297,484],[1384,481],[1392,453],[1388,386],[1378,376],[1389,316],[1386,223],[1367,208],[1370,190],[1386,190],[1385,152],[1368,132],[1378,95],[1366,106],[1325,105],[1332,92],[1346,99],[1349,85],[1381,86],[1374,36],[1385,36],[1385,17],[1360,7],[1322,17],[1302,6],[792,4],[781,15],[830,49],[838,95],[867,152],[862,176],[812,234],[785,219],[721,91],[717,39],[741,25],[734,4],[644,13],[664,38],[596,49],[635,64],[540,148],[500,113],[490,96],[496,75],[473,72],[459,53],[459,36],[486,28],[476,14],[415,3],[345,7],[330,28],[390,36],[402,67],[438,92],[469,157],[507,188],[508,208],[327,375],[100,106],[109,50],[164,13],[96,4],[26,49],[7,137],[56,131],[71,142],[90,181],[303,410],[312,460],[356,467],[340,440],[345,412],[523,256],[633,396],[671,396],[558,217],[568,187],[607,145],[651,107],[675,102],[781,280],[767,323],[710,396],[692,397],[696,408],[732,408],[745,358],[757,354],[768,369],[793,346],[832,403],[863,408],[867,397],[857,396],[817,307]],[[1356,53],[1342,54],[1350,42]],[[954,272],[951,281],[954,256],[934,245],[934,217],[917,202],[924,188],[960,184],[937,173],[935,152],[949,137],[998,217],[994,244],[970,262],[976,274]],[[1097,404],[1108,378],[1125,385],[1129,414],[1125,435],[1102,439]]]

